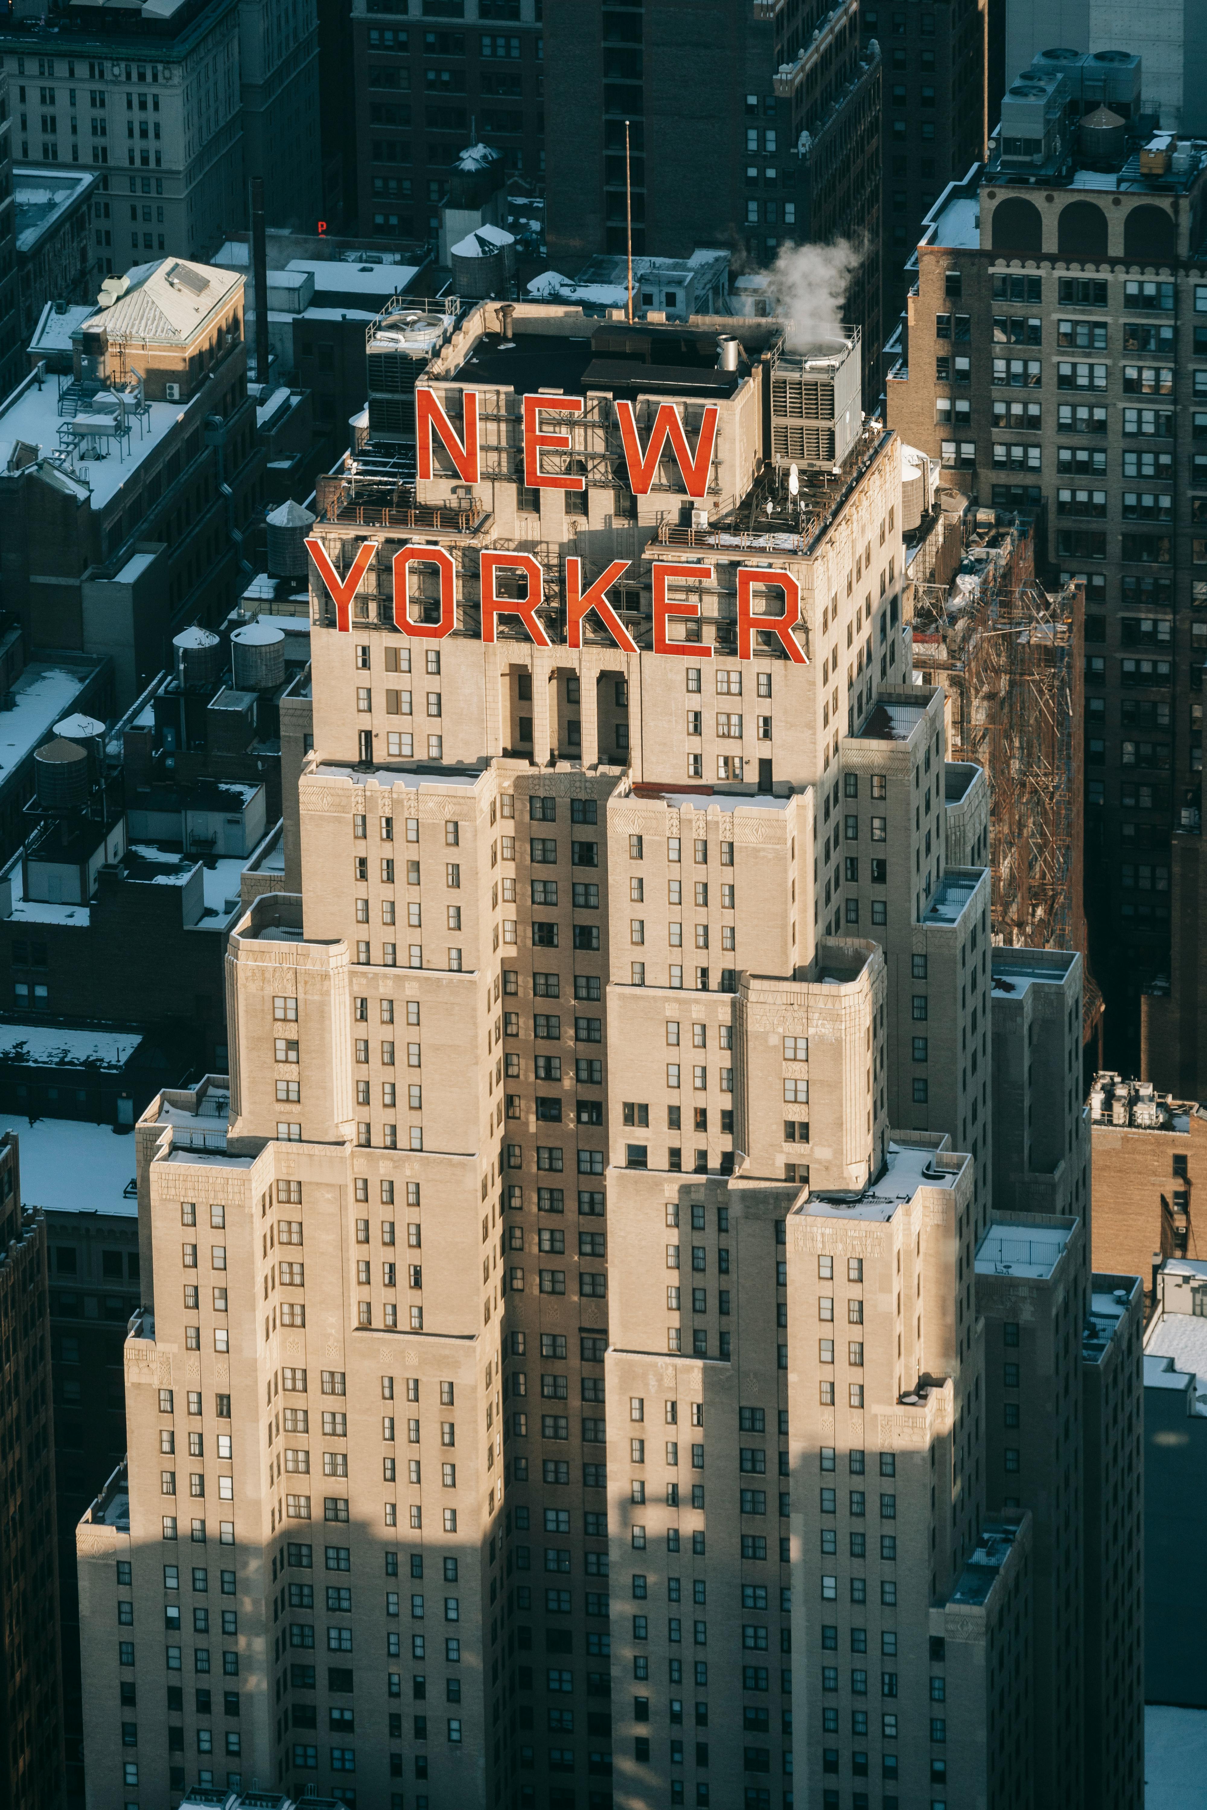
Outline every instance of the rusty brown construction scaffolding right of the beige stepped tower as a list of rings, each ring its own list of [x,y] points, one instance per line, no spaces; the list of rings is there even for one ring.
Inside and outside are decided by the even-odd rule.
[[[948,758],[990,786],[993,939],[1086,948],[1084,594],[1035,579],[1031,525],[968,510],[950,583],[912,586],[914,668],[946,691]],[[1100,1015],[1086,968],[1086,1030]]]

